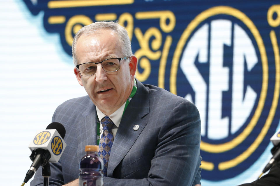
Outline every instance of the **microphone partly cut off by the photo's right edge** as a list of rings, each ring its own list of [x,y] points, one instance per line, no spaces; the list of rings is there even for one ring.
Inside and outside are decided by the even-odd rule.
[[[280,129],[270,138],[270,141],[274,144],[274,147],[271,149],[273,156],[263,169],[262,174],[268,171],[274,162],[280,158]]]

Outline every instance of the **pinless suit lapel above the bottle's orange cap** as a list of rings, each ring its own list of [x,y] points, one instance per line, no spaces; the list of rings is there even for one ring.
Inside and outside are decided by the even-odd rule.
[[[91,100],[90,100],[91,102]],[[91,106],[88,107],[82,114],[82,119],[76,125],[77,126],[77,141],[78,150],[77,158],[80,164],[81,158],[85,155],[86,145],[96,145],[97,143],[97,116],[95,105],[91,102]],[[98,144],[97,144],[98,145]]]

